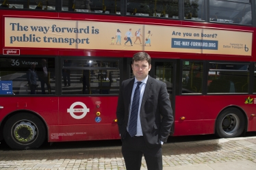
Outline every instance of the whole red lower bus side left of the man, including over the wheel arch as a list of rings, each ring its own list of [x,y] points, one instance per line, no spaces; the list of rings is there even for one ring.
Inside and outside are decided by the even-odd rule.
[[[47,124],[49,141],[87,141],[119,139],[116,119],[117,97],[14,97],[1,98],[0,120],[9,113],[31,111],[37,113]],[[90,111],[84,118],[74,119],[71,104],[83,102]],[[99,102],[97,108],[96,102]],[[81,106],[75,109],[81,109]],[[95,118],[100,113],[101,122]],[[82,113],[75,113],[81,115]]]

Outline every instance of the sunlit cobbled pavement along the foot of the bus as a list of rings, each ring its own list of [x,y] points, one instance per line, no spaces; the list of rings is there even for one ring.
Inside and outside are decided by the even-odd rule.
[[[54,143],[53,145],[57,145]],[[256,137],[168,142],[164,170],[256,170]],[[0,169],[125,169],[120,146],[1,150]],[[146,170],[142,158],[141,170]]]

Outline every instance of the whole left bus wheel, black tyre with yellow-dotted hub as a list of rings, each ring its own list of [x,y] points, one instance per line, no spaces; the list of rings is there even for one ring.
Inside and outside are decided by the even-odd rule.
[[[31,113],[18,113],[10,117],[3,127],[3,139],[16,150],[40,147],[46,137],[42,121]]]

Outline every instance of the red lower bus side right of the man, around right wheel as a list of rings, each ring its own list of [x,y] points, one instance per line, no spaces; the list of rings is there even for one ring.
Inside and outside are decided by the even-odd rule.
[[[248,131],[256,131],[256,96],[253,104],[245,104],[249,95],[242,96],[176,96],[175,136],[213,134],[218,113],[227,107],[237,107],[246,113]],[[180,117],[185,117],[181,120]]]

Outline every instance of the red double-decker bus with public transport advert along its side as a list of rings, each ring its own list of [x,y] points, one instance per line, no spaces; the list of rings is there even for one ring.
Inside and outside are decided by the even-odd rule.
[[[12,1],[0,8],[0,140],[119,139],[131,57],[167,85],[173,136],[256,131],[255,1]]]

